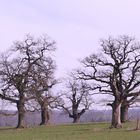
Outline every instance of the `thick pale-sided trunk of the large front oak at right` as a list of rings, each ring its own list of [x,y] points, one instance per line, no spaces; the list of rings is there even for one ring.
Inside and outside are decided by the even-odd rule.
[[[121,103],[114,101],[112,105],[112,123],[111,128],[121,128]]]

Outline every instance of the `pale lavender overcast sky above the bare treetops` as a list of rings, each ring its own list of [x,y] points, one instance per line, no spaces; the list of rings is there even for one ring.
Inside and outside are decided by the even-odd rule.
[[[27,33],[57,42],[59,76],[99,49],[109,35],[140,39],[139,0],[0,0],[0,49]]]

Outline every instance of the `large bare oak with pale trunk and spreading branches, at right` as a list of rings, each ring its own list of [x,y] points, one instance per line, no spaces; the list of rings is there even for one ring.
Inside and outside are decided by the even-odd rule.
[[[86,57],[79,78],[96,82],[99,93],[114,97],[111,127],[122,127],[121,106],[137,97],[140,86],[140,45],[134,38],[120,36],[101,40],[102,51]]]

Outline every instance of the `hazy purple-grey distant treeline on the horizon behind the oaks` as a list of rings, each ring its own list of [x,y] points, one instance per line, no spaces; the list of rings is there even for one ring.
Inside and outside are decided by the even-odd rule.
[[[5,113],[14,114],[14,111],[2,111],[0,114],[0,126],[16,126],[17,125],[17,115],[5,115]],[[5,113],[4,113],[5,112]],[[140,113],[138,109],[129,110],[129,120],[136,120],[140,118]],[[88,122],[110,122],[111,121],[111,110],[88,110],[81,118],[79,123]],[[54,124],[68,124],[72,123],[70,119],[64,112],[53,110],[51,111],[51,119],[49,123]],[[25,125],[36,126],[40,123],[40,112],[27,112],[25,115]]]

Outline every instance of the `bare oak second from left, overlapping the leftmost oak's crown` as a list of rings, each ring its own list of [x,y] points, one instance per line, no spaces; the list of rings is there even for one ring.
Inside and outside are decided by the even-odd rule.
[[[53,108],[53,104],[57,97],[51,94],[51,89],[57,84],[54,79],[55,64],[50,58],[39,66],[35,66],[32,71],[32,80],[30,84],[30,94],[39,104],[41,110],[41,123],[45,125],[50,119],[49,109]]]

